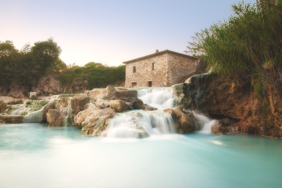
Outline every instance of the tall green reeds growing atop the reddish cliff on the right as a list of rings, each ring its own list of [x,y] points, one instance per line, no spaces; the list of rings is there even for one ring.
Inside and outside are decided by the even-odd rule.
[[[282,81],[282,0],[232,5],[228,21],[195,33],[187,53],[201,55],[222,77],[262,75]],[[256,89],[261,90],[261,82]]]

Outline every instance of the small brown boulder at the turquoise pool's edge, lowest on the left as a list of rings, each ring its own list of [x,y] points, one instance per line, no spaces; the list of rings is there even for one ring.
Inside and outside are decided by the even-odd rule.
[[[65,117],[60,113],[60,110],[49,109],[47,116],[47,122],[49,123],[49,127],[63,127]]]

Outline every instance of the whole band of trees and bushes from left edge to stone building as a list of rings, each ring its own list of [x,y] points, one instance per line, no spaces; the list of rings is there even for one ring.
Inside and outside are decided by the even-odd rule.
[[[53,38],[35,42],[34,46],[26,43],[20,50],[15,48],[12,41],[0,41],[1,89],[15,82],[30,91],[34,80],[54,72],[64,86],[71,86],[74,81],[87,81],[89,89],[125,80],[125,65],[109,67],[89,62],[83,67],[67,66],[59,58],[61,52]]]

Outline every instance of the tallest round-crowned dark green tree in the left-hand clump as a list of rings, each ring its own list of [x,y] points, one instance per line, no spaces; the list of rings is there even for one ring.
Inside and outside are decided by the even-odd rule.
[[[39,73],[46,73],[47,71],[54,71],[54,68],[57,67],[55,65],[59,61],[62,49],[51,37],[47,41],[34,43],[34,46],[31,47],[31,52]]]

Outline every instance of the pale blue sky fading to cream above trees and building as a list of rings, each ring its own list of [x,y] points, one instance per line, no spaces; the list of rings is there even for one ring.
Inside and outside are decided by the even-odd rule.
[[[237,2],[0,0],[0,41],[11,40],[21,49],[53,37],[67,65],[118,66],[156,49],[184,53],[195,32],[228,20]]]

